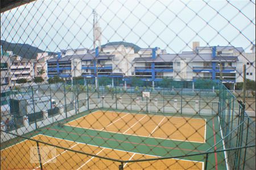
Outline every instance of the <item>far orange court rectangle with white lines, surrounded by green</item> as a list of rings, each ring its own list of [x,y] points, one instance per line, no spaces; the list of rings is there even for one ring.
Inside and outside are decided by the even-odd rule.
[[[96,111],[65,124],[141,137],[205,143],[206,120],[139,113]]]

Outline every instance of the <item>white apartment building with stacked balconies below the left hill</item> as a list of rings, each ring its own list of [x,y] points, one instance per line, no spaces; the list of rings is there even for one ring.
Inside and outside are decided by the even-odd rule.
[[[10,76],[14,85],[19,79],[31,81],[35,77],[35,60],[28,60],[13,54],[10,56]]]

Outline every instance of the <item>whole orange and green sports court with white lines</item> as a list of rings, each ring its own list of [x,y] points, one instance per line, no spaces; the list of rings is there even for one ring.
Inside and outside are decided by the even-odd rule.
[[[216,117],[179,117],[94,110],[79,114],[72,120],[65,120],[63,126],[51,125],[30,135],[32,139],[73,150],[54,147],[55,154],[41,158],[43,169],[118,169],[120,162],[80,154],[77,151],[118,160],[202,153],[221,138],[217,133],[217,121]],[[176,128],[179,130],[174,130]],[[43,143],[39,145],[49,147]],[[31,148],[35,146],[36,142],[30,140],[14,141],[9,146],[1,146],[1,169],[40,169],[38,162],[31,162]],[[216,145],[216,148],[222,147],[222,143]],[[44,149],[40,148],[41,155],[42,152]],[[19,153],[18,156],[15,153]],[[123,168],[204,169],[204,160],[204,155],[199,155],[124,163]],[[9,164],[10,162],[14,164]],[[219,169],[226,168],[223,153],[209,155],[208,162],[209,167],[217,165]]]

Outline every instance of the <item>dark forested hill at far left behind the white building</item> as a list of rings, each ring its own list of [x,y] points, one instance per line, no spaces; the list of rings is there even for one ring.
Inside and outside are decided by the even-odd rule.
[[[13,51],[13,54],[16,54],[20,57],[27,58],[27,59],[36,59],[36,56],[38,53],[45,52],[44,50],[41,50],[35,46],[29,45],[29,44],[15,44],[10,43],[4,40],[1,40],[2,50],[3,51]],[[48,52],[49,55],[56,53]]]

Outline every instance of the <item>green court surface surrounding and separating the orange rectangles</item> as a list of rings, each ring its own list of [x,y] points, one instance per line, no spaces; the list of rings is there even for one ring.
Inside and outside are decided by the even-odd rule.
[[[63,120],[63,124],[71,122],[79,117],[83,117],[94,111],[86,111],[84,113],[77,114],[72,118]],[[109,109],[108,109],[109,111]],[[131,111],[121,111],[113,110],[117,112],[131,112]],[[136,114],[136,112],[133,112]],[[140,114],[152,114],[152,113],[141,113]],[[80,143],[86,143],[89,145],[113,148],[115,150],[122,150],[128,152],[136,152],[139,154],[154,155],[160,157],[167,156],[181,156],[181,155],[191,155],[200,154],[205,151],[221,150],[223,149],[222,142],[219,142],[216,147],[213,147],[216,142],[221,140],[220,125],[217,116],[203,116],[203,115],[189,115],[189,114],[172,114],[172,113],[158,113],[164,116],[185,116],[193,118],[205,118],[207,120],[206,129],[206,139],[205,143],[197,142],[186,142],[186,141],[174,141],[167,139],[158,138],[148,138],[140,137],[135,135],[127,135],[120,133],[112,133],[108,131],[92,130],[92,129],[82,129],[75,128],[72,126],[58,126],[57,124],[48,125],[44,128],[32,131],[26,134],[27,137],[34,137],[35,135],[42,134],[49,137],[55,137],[60,139],[66,139],[69,141],[75,141]],[[2,143],[1,150],[11,145],[15,145],[22,141],[20,138],[12,139],[9,142]],[[47,142],[47,141],[43,141]],[[91,154],[91,153],[90,153]],[[206,155],[196,155],[196,156],[183,156],[179,159],[191,160],[197,162],[205,163]],[[224,152],[217,152],[209,154],[208,157],[208,167],[207,169],[226,169]]]

